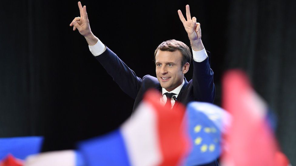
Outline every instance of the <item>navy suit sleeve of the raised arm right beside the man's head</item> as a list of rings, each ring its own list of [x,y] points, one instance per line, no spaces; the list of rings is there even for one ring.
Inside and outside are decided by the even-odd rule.
[[[193,60],[193,94],[196,100],[213,103],[215,98],[214,72],[210,67],[210,52],[202,62]]]

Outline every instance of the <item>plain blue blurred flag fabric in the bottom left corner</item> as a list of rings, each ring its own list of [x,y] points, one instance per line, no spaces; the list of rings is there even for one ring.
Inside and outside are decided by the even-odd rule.
[[[43,137],[9,137],[0,138],[0,161],[8,154],[24,160],[27,156],[37,154],[41,150]]]

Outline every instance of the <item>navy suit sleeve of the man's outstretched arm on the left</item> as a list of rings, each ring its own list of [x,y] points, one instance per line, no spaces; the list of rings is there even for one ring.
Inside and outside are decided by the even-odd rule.
[[[107,73],[119,85],[119,87],[133,99],[136,99],[142,79],[136,76],[119,57],[108,47],[103,54],[95,57],[105,68]]]

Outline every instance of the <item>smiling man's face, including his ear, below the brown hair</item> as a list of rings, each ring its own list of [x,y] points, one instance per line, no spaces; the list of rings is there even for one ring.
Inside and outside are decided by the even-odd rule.
[[[179,50],[174,52],[158,50],[155,55],[156,76],[161,87],[172,91],[183,83],[184,74],[189,63],[181,67],[183,55]]]

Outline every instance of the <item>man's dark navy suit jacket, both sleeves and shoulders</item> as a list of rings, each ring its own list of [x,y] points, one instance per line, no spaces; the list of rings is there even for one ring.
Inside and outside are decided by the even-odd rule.
[[[185,106],[190,101],[202,101],[213,103],[215,97],[215,86],[213,81],[214,72],[210,68],[210,52],[207,52],[208,58],[203,62],[195,62],[193,60],[193,77],[187,82],[184,77],[183,85],[177,97],[177,101]],[[156,77],[146,75],[142,79],[137,77],[135,72],[131,70],[122,60],[117,57],[108,47],[103,54],[95,57],[106,69],[113,80],[119,87],[135,99],[133,110],[143,99],[144,93],[155,88],[161,92],[161,86]],[[178,102],[175,103],[177,105]],[[174,106],[175,106],[174,105]],[[218,165],[214,161],[206,165]]]

